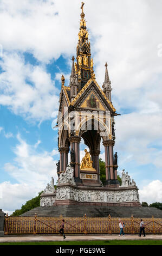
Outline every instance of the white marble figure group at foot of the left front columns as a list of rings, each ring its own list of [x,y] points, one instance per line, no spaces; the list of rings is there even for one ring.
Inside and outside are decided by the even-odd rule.
[[[75,185],[74,168],[72,166],[68,165],[66,171],[60,174],[58,184],[61,183],[69,183]]]

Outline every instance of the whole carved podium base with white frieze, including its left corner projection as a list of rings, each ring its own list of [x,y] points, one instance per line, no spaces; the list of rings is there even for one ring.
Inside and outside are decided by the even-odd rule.
[[[115,185],[115,184],[110,184]],[[116,185],[115,185],[116,186]],[[41,206],[98,205],[98,206],[140,206],[138,187],[77,186],[73,181],[57,185],[54,193],[41,194]]]

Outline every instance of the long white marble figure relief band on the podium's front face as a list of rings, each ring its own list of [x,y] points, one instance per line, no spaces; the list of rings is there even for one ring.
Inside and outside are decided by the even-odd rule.
[[[66,186],[57,188],[56,200],[99,203],[139,202],[139,194],[138,190],[133,188],[120,191],[93,191]]]

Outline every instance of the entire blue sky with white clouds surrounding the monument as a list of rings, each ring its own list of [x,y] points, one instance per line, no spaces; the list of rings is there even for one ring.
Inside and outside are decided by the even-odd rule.
[[[162,1],[85,0],[84,13],[102,88],[112,81],[118,174],[140,202],[162,202]],[[0,208],[11,214],[56,184],[61,76],[76,57],[81,1],[0,1]],[[81,157],[83,149],[80,145]],[[101,158],[104,149],[101,144]]]

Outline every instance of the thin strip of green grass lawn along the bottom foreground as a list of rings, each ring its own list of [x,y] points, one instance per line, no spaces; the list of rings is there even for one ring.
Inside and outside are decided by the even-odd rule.
[[[7,242],[0,245],[162,245],[162,240],[110,240],[110,241],[57,241],[57,242]]]

